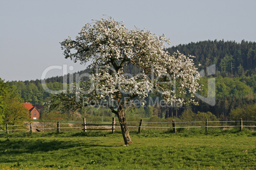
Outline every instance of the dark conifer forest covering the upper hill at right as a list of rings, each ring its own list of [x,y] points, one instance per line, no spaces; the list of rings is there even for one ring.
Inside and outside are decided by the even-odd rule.
[[[185,55],[196,56],[199,70],[212,64],[217,65],[217,76],[251,76],[256,72],[256,42],[241,41],[200,41],[180,44],[168,48],[169,53],[180,51]]]

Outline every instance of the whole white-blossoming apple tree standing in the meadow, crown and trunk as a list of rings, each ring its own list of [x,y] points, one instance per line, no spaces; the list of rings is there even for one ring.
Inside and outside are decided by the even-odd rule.
[[[143,100],[148,93],[162,95],[166,103],[191,101],[199,89],[199,73],[192,56],[180,52],[170,55],[164,50],[170,41],[155,36],[145,29],[128,30],[122,22],[103,18],[86,23],[79,36],[60,42],[65,58],[81,64],[90,62],[91,74],[87,81],[73,84],[69,91],[62,91],[52,100],[63,109],[77,110],[87,105],[102,105],[117,115],[125,145],[132,142],[125,108],[134,98]],[[138,74],[125,72],[127,65],[139,68]],[[59,101],[59,102],[56,102]],[[115,101],[115,104],[113,104]]]

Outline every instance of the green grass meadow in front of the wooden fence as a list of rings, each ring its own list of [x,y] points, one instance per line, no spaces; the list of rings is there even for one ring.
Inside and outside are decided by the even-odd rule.
[[[255,169],[256,133],[238,129],[0,134],[0,169]]]

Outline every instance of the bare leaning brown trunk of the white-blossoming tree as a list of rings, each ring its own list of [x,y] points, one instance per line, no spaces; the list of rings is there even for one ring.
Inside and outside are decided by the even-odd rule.
[[[125,118],[125,114],[124,114],[124,107],[122,107],[122,106],[119,107],[117,116],[118,116],[118,121],[121,126],[122,135],[124,138],[124,144],[129,145],[129,143],[132,143],[132,140],[129,135],[129,131],[128,131],[128,127],[127,127],[127,122],[126,122],[126,118]]]

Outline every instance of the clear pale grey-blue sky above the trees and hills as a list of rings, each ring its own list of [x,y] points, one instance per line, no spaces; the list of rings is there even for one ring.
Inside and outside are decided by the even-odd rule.
[[[165,34],[171,46],[205,40],[256,41],[256,1],[0,1],[0,77],[5,81],[41,79],[50,66],[73,72],[85,65],[62,55],[59,42],[74,38],[103,13],[128,29]],[[62,75],[50,70],[46,77]]]

